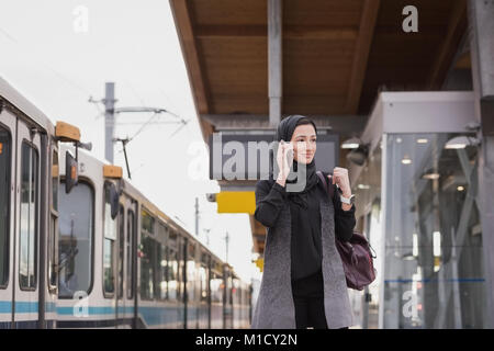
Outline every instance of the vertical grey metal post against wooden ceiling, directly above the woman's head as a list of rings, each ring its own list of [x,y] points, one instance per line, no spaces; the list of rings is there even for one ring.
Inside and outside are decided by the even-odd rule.
[[[281,121],[283,97],[282,19],[281,0],[268,0],[269,124],[272,127]]]

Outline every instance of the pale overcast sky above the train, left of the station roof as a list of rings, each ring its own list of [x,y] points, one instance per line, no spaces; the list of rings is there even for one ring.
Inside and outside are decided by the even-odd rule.
[[[89,103],[115,82],[116,107],[164,107],[190,120],[155,116],[127,145],[133,183],[170,217],[194,233],[194,201],[200,203],[200,235],[211,229],[210,248],[244,279],[259,278],[252,259],[248,215],[220,215],[205,193],[218,192],[207,179],[203,143],[182,53],[167,0],[2,0],[0,76],[43,111],[81,129],[83,141],[104,157],[103,106]],[[87,15],[86,15],[87,14]],[[87,21],[86,21],[87,19]],[[116,137],[132,137],[149,113],[122,114]],[[121,145],[115,162],[124,167]],[[200,161],[198,161],[200,160]],[[180,222],[179,222],[180,223]]]

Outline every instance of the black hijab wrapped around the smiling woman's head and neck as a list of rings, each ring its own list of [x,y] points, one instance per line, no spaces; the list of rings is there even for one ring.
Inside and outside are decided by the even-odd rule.
[[[290,143],[293,136],[293,132],[295,131],[296,126],[300,125],[300,122],[302,118],[308,120],[305,116],[302,115],[291,115],[285,118],[283,118],[280,124],[278,125],[277,129],[277,140],[284,140],[285,143]],[[314,126],[314,131],[317,135],[317,128],[311,120],[308,120],[311,124]],[[291,165],[289,179],[287,179],[287,183],[294,183],[296,182],[296,172],[299,169],[299,162],[293,159],[293,163]],[[301,192],[288,192],[288,196],[291,201],[293,201],[295,204],[297,204],[302,208],[307,208],[308,206],[308,196],[307,192],[317,184],[318,178],[316,174],[316,167],[315,167],[315,160],[313,159],[311,163],[306,163],[305,171],[301,171],[301,177],[305,176],[306,183],[305,188]],[[293,177],[293,179],[292,179]]]

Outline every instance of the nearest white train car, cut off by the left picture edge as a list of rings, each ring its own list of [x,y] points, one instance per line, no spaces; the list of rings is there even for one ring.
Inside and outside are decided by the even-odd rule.
[[[58,145],[79,138],[0,78],[0,328],[56,326]]]

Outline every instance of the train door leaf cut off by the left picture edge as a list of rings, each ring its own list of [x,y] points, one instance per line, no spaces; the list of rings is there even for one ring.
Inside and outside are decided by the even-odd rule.
[[[15,203],[15,117],[0,111],[0,328],[12,324]]]

